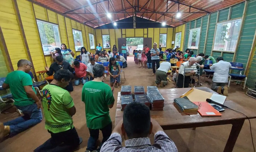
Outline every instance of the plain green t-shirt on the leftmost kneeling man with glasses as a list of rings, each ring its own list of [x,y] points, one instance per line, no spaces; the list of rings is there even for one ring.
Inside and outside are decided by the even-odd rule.
[[[27,96],[24,86],[32,85],[32,89],[36,94],[33,87],[32,78],[24,71],[13,71],[9,73],[5,79],[5,84],[8,84],[14,99],[14,105],[27,106],[32,105],[35,101]]]

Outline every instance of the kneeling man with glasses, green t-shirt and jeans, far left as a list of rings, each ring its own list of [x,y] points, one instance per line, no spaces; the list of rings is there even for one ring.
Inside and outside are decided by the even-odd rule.
[[[32,78],[28,74],[33,68],[28,60],[19,60],[18,69],[9,73],[2,85],[2,88],[10,88],[14,105],[20,109],[24,116],[0,123],[0,141],[5,136],[13,136],[42,121],[41,101],[36,95]]]

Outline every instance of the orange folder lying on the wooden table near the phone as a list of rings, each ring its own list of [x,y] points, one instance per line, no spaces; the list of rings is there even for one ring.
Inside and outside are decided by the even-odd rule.
[[[193,102],[198,105],[198,112],[201,116],[222,116],[208,102]]]

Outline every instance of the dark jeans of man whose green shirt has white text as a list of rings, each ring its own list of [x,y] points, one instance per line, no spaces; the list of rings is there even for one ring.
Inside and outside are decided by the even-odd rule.
[[[100,147],[97,149],[96,142],[99,138],[99,130],[101,130],[101,132],[102,132],[103,139],[101,141]],[[109,123],[107,126],[105,126],[102,129],[90,129],[89,128],[89,132],[90,132],[90,137],[88,139],[86,150],[93,151],[93,150],[97,149],[97,151],[99,152],[101,150],[101,146],[103,145],[103,143],[105,143],[105,141],[108,140],[108,138],[110,137],[110,135],[112,133],[112,122]]]

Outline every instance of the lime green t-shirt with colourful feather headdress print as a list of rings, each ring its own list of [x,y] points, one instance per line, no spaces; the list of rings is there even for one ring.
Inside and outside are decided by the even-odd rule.
[[[57,85],[46,85],[42,90],[45,129],[60,133],[72,129],[73,120],[68,109],[75,104],[69,92]]]

